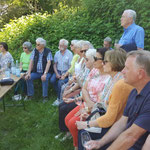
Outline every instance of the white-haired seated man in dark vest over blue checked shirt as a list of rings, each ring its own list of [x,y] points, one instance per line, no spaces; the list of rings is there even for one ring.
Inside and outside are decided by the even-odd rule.
[[[27,95],[30,99],[34,95],[33,80],[42,80],[43,103],[47,101],[48,80],[53,72],[51,62],[53,60],[50,49],[46,48],[46,41],[43,38],[36,39],[36,48],[32,51],[28,73],[25,76],[27,80]]]

